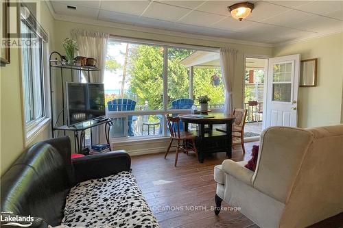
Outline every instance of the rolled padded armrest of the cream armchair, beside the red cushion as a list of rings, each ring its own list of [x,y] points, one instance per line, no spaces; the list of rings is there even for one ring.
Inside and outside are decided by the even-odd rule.
[[[248,186],[251,186],[251,179],[254,172],[244,167],[248,162],[234,162],[233,160],[227,159],[222,163],[222,170],[224,173],[235,177],[236,179],[243,181]]]

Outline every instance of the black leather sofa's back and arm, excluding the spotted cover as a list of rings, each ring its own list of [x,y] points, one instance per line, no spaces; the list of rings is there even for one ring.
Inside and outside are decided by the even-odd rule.
[[[60,225],[71,187],[88,179],[130,171],[130,165],[126,151],[71,160],[68,137],[38,142],[1,177],[1,212],[43,218],[35,220],[36,227],[46,227],[42,223]]]

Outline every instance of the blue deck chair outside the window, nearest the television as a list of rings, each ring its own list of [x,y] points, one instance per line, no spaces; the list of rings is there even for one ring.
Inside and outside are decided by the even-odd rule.
[[[114,99],[107,102],[108,111],[133,111],[136,107],[136,101],[131,99]],[[134,136],[132,130],[132,121],[136,121],[136,116],[128,116],[128,135]]]

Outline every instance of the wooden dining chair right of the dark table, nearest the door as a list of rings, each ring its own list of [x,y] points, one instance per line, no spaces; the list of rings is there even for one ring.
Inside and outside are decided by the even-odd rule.
[[[233,137],[241,139],[241,149],[243,153],[246,153],[244,147],[244,126],[246,125],[246,113],[248,110],[241,108],[235,108],[233,110],[233,116],[235,116],[235,122],[233,123]]]

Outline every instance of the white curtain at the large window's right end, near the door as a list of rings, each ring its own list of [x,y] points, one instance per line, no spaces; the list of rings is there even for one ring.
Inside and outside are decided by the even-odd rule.
[[[224,113],[233,114],[233,85],[235,84],[235,67],[237,62],[237,49],[222,47],[220,49],[220,66],[225,86]]]

